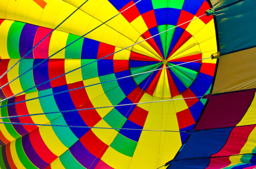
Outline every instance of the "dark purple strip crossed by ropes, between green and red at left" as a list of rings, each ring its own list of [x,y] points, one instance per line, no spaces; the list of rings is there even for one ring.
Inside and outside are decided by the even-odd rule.
[[[8,100],[8,104],[14,103],[14,101],[15,101],[15,98],[11,98]],[[7,106],[7,111],[9,116],[17,116],[15,105]],[[19,118],[10,118],[10,121],[20,123]],[[21,136],[24,136],[25,134],[28,133],[27,130],[22,125],[14,124],[12,126],[17,131],[17,133],[20,134]]]

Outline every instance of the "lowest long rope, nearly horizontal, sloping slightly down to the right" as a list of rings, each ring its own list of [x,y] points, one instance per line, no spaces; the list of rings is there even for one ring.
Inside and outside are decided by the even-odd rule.
[[[178,133],[185,132],[185,131],[172,131],[172,130],[146,130],[146,129],[137,129],[137,128],[88,127],[88,126],[77,126],[77,125],[52,125],[52,124],[33,124],[33,123],[18,123],[18,122],[0,122],[0,124],[40,125],[40,126],[72,127],[72,128],[99,128],[99,129],[113,129],[113,130],[165,131],[165,132],[178,132]]]

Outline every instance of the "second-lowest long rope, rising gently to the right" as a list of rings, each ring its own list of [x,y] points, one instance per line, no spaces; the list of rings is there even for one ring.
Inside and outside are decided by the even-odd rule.
[[[131,106],[131,105],[138,105],[138,104],[158,103],[158,102],[163,102],[163,101],[184,100],[184,99],[201,98],[201,97],[203,97],[203,96],[149,101],[149,102],[142,102],[142,103],[119,104],[119,105],[115,105],[115,106],[91,107],[91,108],[85,108],[85,109],[63,110],[63,111],[59,111],[59,112],[38,113],[38,114],[31,114],[31,115],[6,116],[6,117],[0,117],[0,119],[10,119],[10,118],[19,118],[19,117],[37,116],[37,115],[48,115],[48,114],[64,113],[64,112],[76,112],[76,111],[82,111],[82,110],[104,109],[104,108],[110,108],[110,107]]]

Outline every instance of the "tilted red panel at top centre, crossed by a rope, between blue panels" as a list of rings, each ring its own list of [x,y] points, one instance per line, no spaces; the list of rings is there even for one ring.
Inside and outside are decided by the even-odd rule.
[[[129,3],[127,3],[123,8],[121,8],[119,10],[119,12],[122,12],[123,10],[125,10],[126,8],[130,7],[131,5],[133,5],[134,2],[131,1]],[[131,8],[127,9],[126,11],[122,12],[123,17],[125,17],[125,19],[131,23],[133,20],[135,20],[137,17],[140,16],[140,12],[137,9],[136,5],[133,5]]]

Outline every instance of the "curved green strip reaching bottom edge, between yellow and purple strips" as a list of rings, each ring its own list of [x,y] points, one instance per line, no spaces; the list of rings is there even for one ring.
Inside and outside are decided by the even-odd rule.
[[[21,137],[15,141],[15,148],[16,148],[18,158],[20,159],[21,163],[25,168],[37,169],[37,167],[34,166],[34,164],[31,163],[31,161],[27,158],[27,155],[25,154],[22,147]]]

